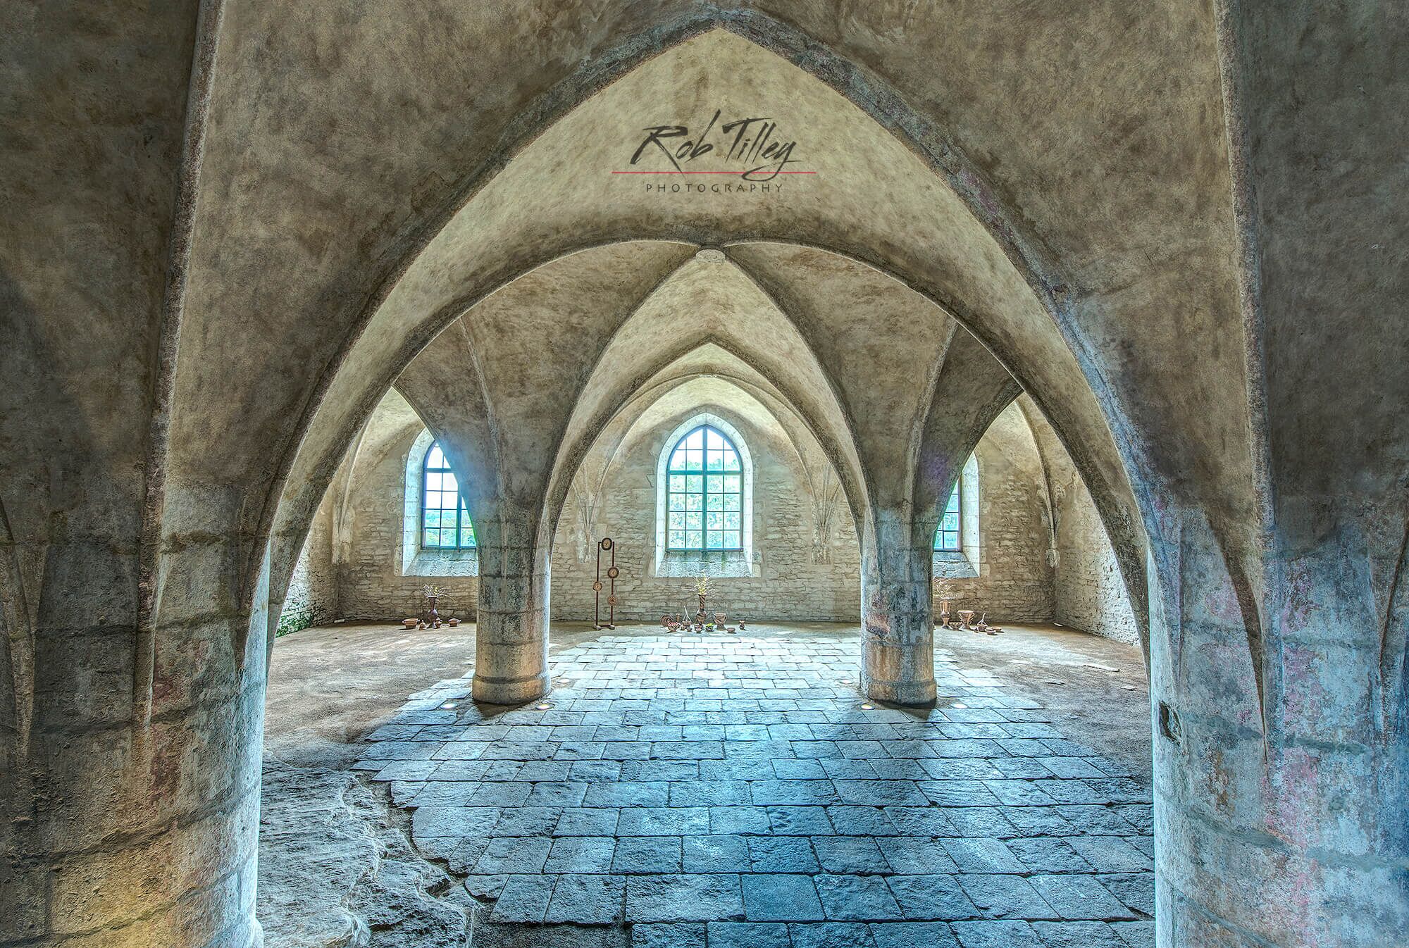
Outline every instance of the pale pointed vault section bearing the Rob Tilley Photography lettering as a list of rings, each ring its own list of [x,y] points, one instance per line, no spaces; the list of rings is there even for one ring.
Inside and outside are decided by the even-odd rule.
[[[720,82],[721,75],[748,76],[748,82]],[[659,101],[658,93],[655,100],[644,96],[645,89],[668,90],[665,101]],[[676,101],[671,101],[672,96]],[[596,130],[637,128],[648,124],[661,108],[693,114],[706,108],[706,100],[714,99],[721,108],[745,111],[758,103],[789,101],[796,116],[793,121],[810,128],[817,141],[828,142],[817,148],[821,177],[807,182],[807,186],[820,183],[823,187],[805,192],[802,183],[788,183],[785,186],[795,190],[786,203],[706,201],[702,207],[699,200],[662,200],[655,192],[609,173],[620,163],[616,155],[620,145],[614,137]],[[448,218],[389,290],[385,303],[371,314],[333,379],[328,397],[313,416],[310,441],[303,452],[314,454],[327,432],[323,451],[335,454],[378,389],[409,358],[407,349],[414,351],[428,331],[435,331],[445,318],[492,290],[496,279],[511,279],[523,268],[533,268],[555,254],[602,241],[688,235],[693,245],[733,247],[740,237],[776,235],[793,241],[806,234],[809,242],[836,247],[900,275],[906,270],[927,273],[916,286],[965,317],[985,342],[995,347],[1007,369],[1027,376],[1054,423],[1084,447],[1078,456],[1088,476],[1100,485],[1098,496],[1107,507],[1119,499],[1123,520],[1138,523],[1100,408],[1051,317],[1043,313],[1031,285],[1009,262],[1005,251],[1010,248],[995,239],[992,221],[978,220],[940,170],[926,165],[900,139],[876,131],[874,118],[843,96],[783,58],[727,31],[707,31],[648,61],[544,131]],[[769,270],[786,269],[782,263],[795,270],[816,268],[823,259],[816,252],[807,261],[796,255],[781,256],[783,254],[781,249],[757,251],[750,258],[740,251],[740,259],[747,259],[751,273],[778,293],[786,292],[789,277],[778,276],[769,283]],[[641,273],[658,272],[645,261],[638,266]],[[851,277],[865,275],[862,283],[871,286],[895,283],[865,266],[843,263],[840,258],[833,266],[850,268]],[[937,273],[944,279],[936,282]],[[795,273],[792,279],[799,277]],[[831,277],[833,283],[841,279],[847,277]],[[886,297],[875,299],[883,301]],[[814,299],[813,308],[821,303]],[[910,308],[921,303],[907,300]],[[799,303],[793,308],[802,307]],[[872,306],[869,311],[876,314],[881,308]],[[902,308],[888,314],[885,324],[903,324],[907,316],[910,313]],[[940,325],[941,320],[943,314],[936,310],[927,324]],[[688,332],[688,327],[689,320],[682,318],[672,331]],[[917,352],[924,352],[924,347]],[[929,385],[927,370],[934,369],[938,359],[933,352],[927,359],[916,358],[914,366],[898,368],[907,380],[914,373],[923,387]],[[606,359],[613,361],[614,356]],[[875,386],[871,390],[875,392]],[[592,399],[589,390],[586,403]],[[821,408],[812,406],[809,410]],[[848,451],[844,442],[833,449],[841,470],[855,466],[843,456]],[[872,469],[889,468],[874,465]],[[844,473],[844,478],[852,476],[859,472]]]

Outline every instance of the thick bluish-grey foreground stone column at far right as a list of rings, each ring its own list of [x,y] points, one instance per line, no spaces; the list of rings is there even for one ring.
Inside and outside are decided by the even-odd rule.
[[[1286,549],[1251,641],[1208,530],[1157,544],[1178,585],[1150,597],[1161,947],[1405,944],[1409,590],[1391,527]]]

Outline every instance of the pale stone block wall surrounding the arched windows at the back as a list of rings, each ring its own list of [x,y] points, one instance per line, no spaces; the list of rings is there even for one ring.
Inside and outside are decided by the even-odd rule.
[[[665,611],[693,611],[690,570],[657,575],[655,566],[657,461],[665,438],[683,420],[681,413],[652,418],[620,444],[593,448],[585,459],[583,470],[597,472],[593,482],[602,486],[589,496],[579,482],[558,520],[550,601],[555,620],[592,618],[596,541],[607,535],[616,540],[621,570],[619,618],[654,621]],[[710,610],[724,611],[731,621],[858,621],[855,524],[840,494],[830,506],[819,499],[819,493],[831,496],[836,485],[820,449],[810,444],[799,449],[782,425],[757,414],[728,414],[728,421],[754,459],[752,575],[716,578]],[[442,614],[473,618],[478,576],[404,575],[403,518],[414,509],[406,492],[407,462],[420,437],[417,423],[349,451],[299,558],[286,624],[416,616],[424,604],[421,587],[431,582],[447,589]],[[965,510],[965,556],[936,563],[936,601],[940,583],[947,583],[957,607],[986,610],[995,623],[1055,618],[1134,641],[1130,604],[1091,497],[1060,444],[1043,437],[1014,406],[979,441],[978,497],[969,497]],[[413,489],[418,492],[418,483]],[[1050,503],[1057,511],[1055,540]],[[819,530],[828,513],[831,528]],[[1054,544],[1055,569],[1048,561]],[[735,562],[724,572],[740,569]],[[669,572],[676,575],[664,575]]]

